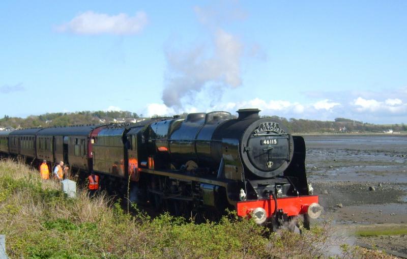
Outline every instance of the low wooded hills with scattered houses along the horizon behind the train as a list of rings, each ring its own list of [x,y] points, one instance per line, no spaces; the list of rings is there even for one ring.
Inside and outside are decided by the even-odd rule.
[[[141,114],[142,116],[142,114]],[[141,117],[140,116],[140,117]],[[187,113],[182,113],[181,118],[186,118]],[[69,126],[81,124],[103,124],[103,123],[134,123],[140,118],[137,113],[130,111],[78,111],[72,113],[45,113],[40,116],[28,116],[25,119],[8,117],[0,119],[0,128],[12,127],[32,128],[32,127],[52,127]],[[153,117],[160,117],[155,114]],[[281,120],[292,132],[298,133],[383,133],[392,130],[393,132],[405,132],[407,126],[398,125],[377,125],[363,123],[345,118],[336,118],[335,121],[312,121],[304,119],[286,119],[277,116],[262,116],[262,118],[275,118]]]

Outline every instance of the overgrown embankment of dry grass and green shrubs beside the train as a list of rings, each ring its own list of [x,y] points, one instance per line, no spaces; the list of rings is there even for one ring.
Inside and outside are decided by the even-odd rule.
[[[324,258],[333,240],[324,226],[270,235],[249,220],[194,224],[167,214],[131,215],[105,195],[75,199],[38,171],[0,161],[0,234],[10,258]],[[386,258],[343,246],[341,258]]]

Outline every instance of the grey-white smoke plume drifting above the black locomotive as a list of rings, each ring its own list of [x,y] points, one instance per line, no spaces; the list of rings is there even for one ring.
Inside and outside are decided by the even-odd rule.
[[[239,39],[218,28],[212,45],[212,54],[205,47],[166,52],[168,68],[162,95],[166,106],[180,109],[184,97],[191,101],[203,89],[215,90],[219,97],[224,89],[242,84],[243,45]]]

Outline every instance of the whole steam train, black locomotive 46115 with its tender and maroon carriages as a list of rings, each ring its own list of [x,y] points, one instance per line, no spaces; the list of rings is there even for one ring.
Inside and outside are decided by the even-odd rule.
[[[63,160],[101,184],[175,215],[216,218],[225,209],[273,227],[322,211],[305,171],[305,143],[258,109],[190,113],[133,125],[0,131],[0,152]]]

